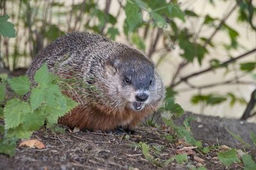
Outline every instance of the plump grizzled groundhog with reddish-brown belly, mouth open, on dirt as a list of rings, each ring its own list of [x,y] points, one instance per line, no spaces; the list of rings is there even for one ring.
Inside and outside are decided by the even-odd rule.
[[[63,93],[79,102],[59,119],[70,128],[115,130],[134,128],[163,102],[164,86],[150,59],[140,50],[94,33],[61,36],[39,52],[26,74],[35,86],[35,72],[44,63],[71,89]]]

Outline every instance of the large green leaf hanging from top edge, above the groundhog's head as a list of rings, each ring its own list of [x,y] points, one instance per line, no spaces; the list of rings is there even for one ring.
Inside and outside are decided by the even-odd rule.
[[[136,28],[142,23],[140,8],[130,1],[127,1],[125,5],[125,15],[125,24],[127,24],[127,30],[129,32],[136,30]]]

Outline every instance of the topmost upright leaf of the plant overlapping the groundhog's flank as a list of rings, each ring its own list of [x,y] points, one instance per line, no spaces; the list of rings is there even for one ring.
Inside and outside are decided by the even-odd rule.
[[[53,81],[53,77],[51,73],[48,72],[47,65],[44,64],[39,68],[39,70],[36,71],[35,74],[35,81],[39,84],[51,84]]]

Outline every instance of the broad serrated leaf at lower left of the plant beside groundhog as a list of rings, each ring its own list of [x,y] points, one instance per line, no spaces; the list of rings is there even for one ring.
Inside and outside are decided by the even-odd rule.
[[[23,123],[23,116],[31,112],[29,104],[14,98],[6,103],[4,108],[4,120],[6,129],[15,128]]]

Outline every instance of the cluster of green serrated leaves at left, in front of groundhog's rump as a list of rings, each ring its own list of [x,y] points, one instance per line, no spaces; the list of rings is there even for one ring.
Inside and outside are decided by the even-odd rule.
[[[58,118],[76,107],[76,102],[61,93],[57,85],[58,77],[49,73],[46,65],[43,65],[36,72],[35,81],[38,82],[38,85],[31,88],[28,101],[13,98],[6,102],[4,107],[5,131],[4,139],[2,139],[3,143],[16,139],[28,139],[33,131],[42,127],[45,122],[51,130],[60,132],[60,128],[55,125],[58,123]],[[28,93],[30,89],[30,83],[26,76],[8,79],[8,83],[13,91],[19,95]],[[8,143],[5,142],[4,144]],[[12,149],[11,144],[6,147]],[[0,151],[10,156],[13,156],[14,153],[13,150],[7,152],[4,148],[0,148]]]

